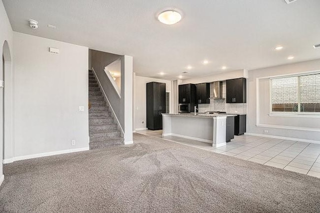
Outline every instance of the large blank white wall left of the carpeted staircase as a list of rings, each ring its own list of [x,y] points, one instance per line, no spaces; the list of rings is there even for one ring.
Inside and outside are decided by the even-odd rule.
[[[13,38],[14,156],[87,149],[88,48],[18,32]]]

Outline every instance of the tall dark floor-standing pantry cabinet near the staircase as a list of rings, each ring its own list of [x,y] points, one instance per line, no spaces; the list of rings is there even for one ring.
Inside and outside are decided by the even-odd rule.
[[[165,83],[146,83],[146,127],[162,129],[162,114],[165,113]]]

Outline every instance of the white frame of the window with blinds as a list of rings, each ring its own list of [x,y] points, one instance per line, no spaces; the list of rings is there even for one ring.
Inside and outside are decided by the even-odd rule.
[[[296,74],[287,74],[287,75],[278,75],[269,77],[269,116],[283,116],[283,117],[320,117],[319,112],[308,112],[308,111],[299,111],[300,110],[300,85],[298,85],[298,111],[272,111],[272,92],[271,92],[271,80],[278,79],[278,78],[285,78],[285,77],[299,77],[304,75],[311,75],[311,74],[320,74],[320,71],[312,71],[312,72],[303,72],[303,73],[296,73]]]

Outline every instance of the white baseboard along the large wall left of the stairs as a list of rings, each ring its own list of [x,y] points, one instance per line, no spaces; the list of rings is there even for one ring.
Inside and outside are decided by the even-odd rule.
[[[65,150],[60,150],[60,151],[50,151],[50,152],[43,152],[43,153],[38,153],[38,154],[22,155],[22,156],[4,159],[3,163],[6,164],[6,163],[18,161],[18,160],[31,159],[31,158],[37,158],[37,157],[46,157],[46,156],[51,156],[51,155],[56,155],[56,154],[65,154],[65,153],[86,151],[86,150],[89,150],[89,146],[83,147],[83,148],[72,148],[72,149],[65,149]]]

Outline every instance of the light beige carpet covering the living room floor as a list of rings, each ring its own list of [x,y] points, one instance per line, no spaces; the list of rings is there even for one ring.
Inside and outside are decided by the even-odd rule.
[[[4,165],[0,212],[319,212],[320,179],[134,134]]]

